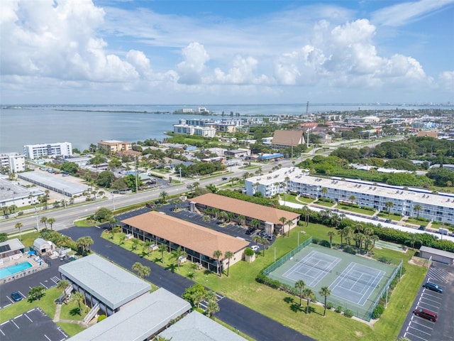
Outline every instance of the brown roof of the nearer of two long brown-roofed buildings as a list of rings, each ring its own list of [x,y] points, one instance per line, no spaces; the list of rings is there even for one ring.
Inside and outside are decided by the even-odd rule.
[[[226,254],[226,251],[237,252],[249,245],[243,239],[155,211],[122,222],[209,257],[216,250]]]

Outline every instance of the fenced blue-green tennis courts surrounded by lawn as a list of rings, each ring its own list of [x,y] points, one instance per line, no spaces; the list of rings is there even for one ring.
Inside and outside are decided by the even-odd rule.
[[[263,273],[292,287],[303,280],[319,302],[324,301],[319,291],[327,286],[331,290],[328,302],[351,310],[358,318],[370,320],[398,270],[399,266],[306,241]]]

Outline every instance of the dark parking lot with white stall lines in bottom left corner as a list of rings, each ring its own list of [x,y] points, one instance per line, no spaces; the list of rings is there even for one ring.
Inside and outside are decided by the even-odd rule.
[[[2,341],[16,340],[66,340],[68,335],[56,325],[40,308],[33,308],[26,313],[5,321],[0,325]]]

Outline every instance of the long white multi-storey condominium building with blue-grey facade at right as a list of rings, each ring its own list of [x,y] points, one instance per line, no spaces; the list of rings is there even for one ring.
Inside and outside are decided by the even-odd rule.
[[[389,210],[399,215],[454,223],[454,195],[433,194],[430,190],[421,188],[335,177],[318,178],[294,167],[248,178],[245,180],[245,188],[248,195],[260,192],[271,197],[288,191],[307,197],[325,197],[340,203],[372,207],[375,210]]]

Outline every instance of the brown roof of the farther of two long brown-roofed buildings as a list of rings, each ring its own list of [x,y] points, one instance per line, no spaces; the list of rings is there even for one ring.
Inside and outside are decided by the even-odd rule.
[[[226,212],[233,212],[237,215],[244,215],[263,222],[272,222],[273,224],[282,224],[279,222],[280,217],[285,217],[287,220],[294,220],[300,215],[293,212],[279,210],[273,207],[258,205],[253,202],[234,199],[233,197],[224,197],[214,193],[208,193],[194,197],[191,201],[201,205],[215,207]]]

